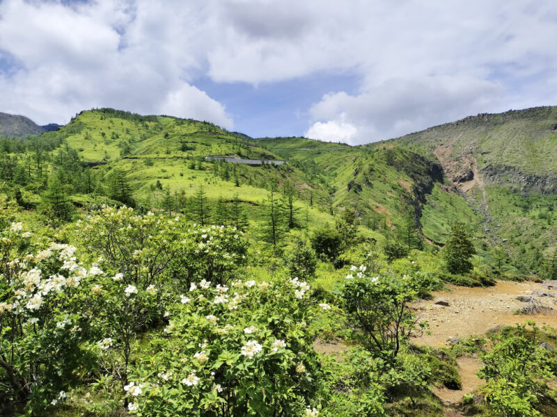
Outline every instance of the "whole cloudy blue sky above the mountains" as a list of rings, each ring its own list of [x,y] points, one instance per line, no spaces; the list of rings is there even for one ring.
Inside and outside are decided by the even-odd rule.
[[[557,105],[554,0],[0,0],[0,111],[359,145]]]

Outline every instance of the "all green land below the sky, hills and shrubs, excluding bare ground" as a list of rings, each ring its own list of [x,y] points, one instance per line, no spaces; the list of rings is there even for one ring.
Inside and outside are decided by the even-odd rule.
[[[0,414],[556,415],[556,331],[526,322],[553,293],[420,343],[448,283],[557,280],[551,156],[485,153],[549,152],[538,111],[350,147],[101,108],[0,140]],[[449,409],[462,359],[482,382]]]

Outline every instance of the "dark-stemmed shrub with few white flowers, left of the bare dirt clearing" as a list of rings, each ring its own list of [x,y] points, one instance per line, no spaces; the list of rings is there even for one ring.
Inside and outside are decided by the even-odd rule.
[[[352,266],[339,295],[356,337],[369,350],[393,359],[402,341],[416,326],[407,303],[414,300],[420,285],[411,277],[367,277],[366,267]]]

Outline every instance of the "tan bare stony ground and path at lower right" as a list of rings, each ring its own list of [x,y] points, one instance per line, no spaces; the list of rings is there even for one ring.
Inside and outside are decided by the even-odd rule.
[[[467,288],[449,285],[446,291],[433,293],[432,300],[421,300],[411,309],[421,321],[430,325],[430,334],[416,337],[417,345],[439,347],[468,336],[482,336],[499,326],[514,326],[533,320],[539,326],[557,328],[557,282],[544,284],[531,281],[497,281],[488,288]],[[536,306],[533,314],[517,311]],[[460,357],[458,367],[462,389],[434,388],[433,392],[447,405],[454,405],[462,396],[476,391],[482,380],[476,376],[481,366],[477,357]],[[458,416],[458,411],[447,409],[446,416]]]

